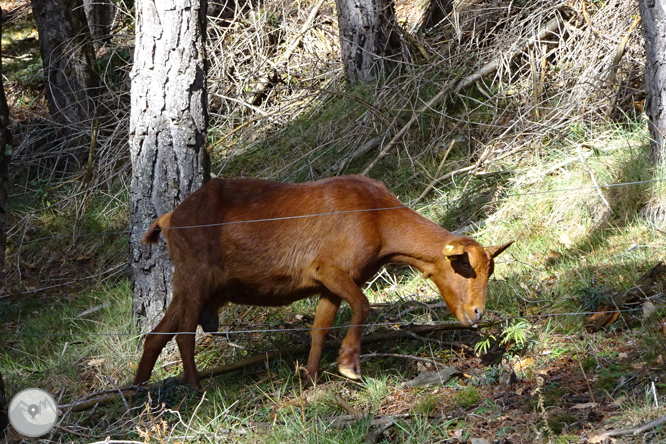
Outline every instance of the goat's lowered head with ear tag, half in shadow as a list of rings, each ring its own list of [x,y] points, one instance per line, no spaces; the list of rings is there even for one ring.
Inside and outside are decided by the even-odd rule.
[[[474,324],[483,317],[488,278],[495,267],[493,260],[512,243],[484,248],[473,239],[457,237],[444,245],[442,256],[428,277],[460,322]]]

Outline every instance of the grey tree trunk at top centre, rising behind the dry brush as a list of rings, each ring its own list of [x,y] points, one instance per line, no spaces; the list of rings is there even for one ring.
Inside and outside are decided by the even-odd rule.
[[[351,84],[381,76],[391,55],[391,29],[395,24],[393,2],[389,0],[336,0],[340,53],[345,77]]]

